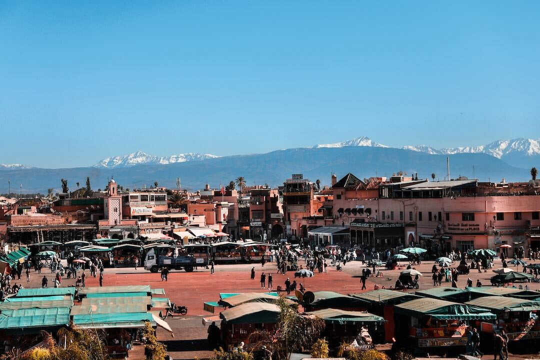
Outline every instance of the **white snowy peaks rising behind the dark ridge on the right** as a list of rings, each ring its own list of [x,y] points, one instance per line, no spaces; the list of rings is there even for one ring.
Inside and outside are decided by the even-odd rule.
[[[320,144],[314,148],[320,147],[343,147],[343,146],[375,146],[389,147],[379,142],[375,142],[367,137],[360,137],[353,140],[336,142],[335,144]],[[511,140],[497,140],[487,145],[480,146],[462,146],[447,147],[437,149],[427,145],[406,145],[401,147],[404,150],[424,152],[434,155],[460,154],[460,153],[484,153],[494,156],[498,159],[505,155],[527,155],[529,157],[540,155],[540,139],[517,138]]]

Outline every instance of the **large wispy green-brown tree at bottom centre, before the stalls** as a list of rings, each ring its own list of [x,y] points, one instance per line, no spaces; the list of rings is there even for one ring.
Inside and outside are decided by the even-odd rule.
[[[298,305],[289,305],[280,297],[276,305],[280,308],[275,330],[255,331],[249,336],[249,342],[265,344],[279,360],[289,360],[293,351],[311,348],[325,321],[320,317],[306,317],[298,313]]]

